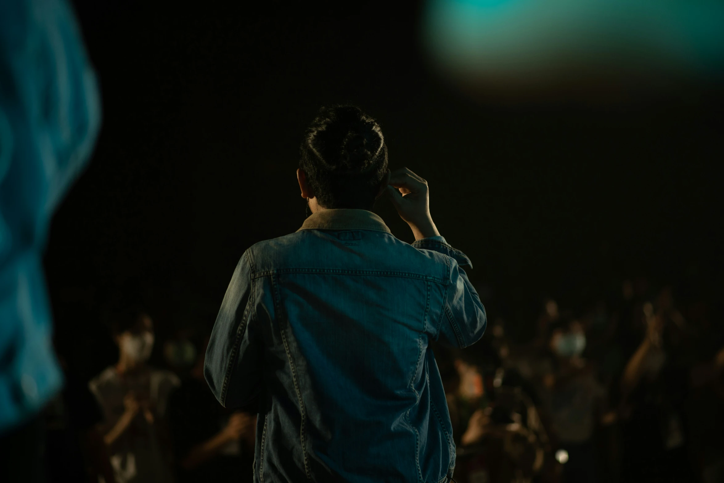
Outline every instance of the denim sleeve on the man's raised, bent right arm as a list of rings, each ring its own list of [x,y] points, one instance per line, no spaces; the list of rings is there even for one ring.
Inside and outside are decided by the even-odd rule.
[[[485,307],[463,270],[473,268],[470,259],[452,248],[442,236],[417,240],[413,247],[434,250],[450,257],[450,283],[444,297],[442,320],[437,337],[448,346],[464,348],[479,341],[487,327]]]

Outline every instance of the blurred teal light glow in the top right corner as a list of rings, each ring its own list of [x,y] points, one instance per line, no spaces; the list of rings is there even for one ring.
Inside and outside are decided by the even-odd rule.
[[[425,40],[458,74],[555,74],[570,67],[720,74],[724,2],[430,0]]]

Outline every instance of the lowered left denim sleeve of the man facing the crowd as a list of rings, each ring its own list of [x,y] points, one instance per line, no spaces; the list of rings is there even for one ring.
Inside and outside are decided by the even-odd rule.
[[[264,344],[255,323],[251,254],[242,255],[211,331],[203,375],[222,406],[237,408],[258,394]]]

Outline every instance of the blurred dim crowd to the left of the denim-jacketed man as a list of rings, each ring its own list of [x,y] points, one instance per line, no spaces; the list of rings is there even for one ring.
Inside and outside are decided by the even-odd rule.
[[[106,325],[117,362],[90,381],[65,362],[82,357],[59,351],[67,385],[43,415],[46,481],[251,482],[256,410],[227,411],[209,390],[209,334],[182,328],[154,351],[153,320],[140,306]],[[149,364],[159,352],[159,367]]]

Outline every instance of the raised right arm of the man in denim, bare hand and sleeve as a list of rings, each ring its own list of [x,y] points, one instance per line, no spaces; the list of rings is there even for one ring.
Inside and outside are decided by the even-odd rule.
[[[439,337],[442,342],[461,348],[476,343],[485,332],[487,317],[480,297],[463,270],[463,265],[472,268],[472,264],[463,252],[447,244],[437,231],[430,215],[427,181],[408,168],[399,169],[390,174],[387,192],[397,213],[415,235],[413,247],[434,250],[452,258]]]

